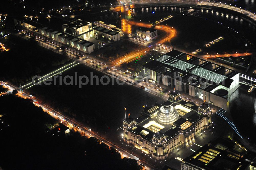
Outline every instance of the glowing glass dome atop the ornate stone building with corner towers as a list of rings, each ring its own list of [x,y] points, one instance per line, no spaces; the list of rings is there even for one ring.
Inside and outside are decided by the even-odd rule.
[[[161,106],[156,116],[156,120],[161,124],[173,124],[178,119],[179,113],[171,105]]]

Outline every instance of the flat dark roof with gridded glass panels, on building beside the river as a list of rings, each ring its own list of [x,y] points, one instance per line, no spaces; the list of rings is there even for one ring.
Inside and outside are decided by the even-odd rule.
[[[190,80],[190,76],[193,76],[191,82],[194,85],[191,85],[208,92],[219,84],[229,88],[233,82],[231,78],[237,74],[236,71],[221,65],[176,50],[172,50],[143,66],[166,76],[175,77],[174,75],[176,75],[177,80],[179,80],[179,75],[182,82],[186,84],[190,83],[188,80]],[[205,84],[202,85],[199,80]]]

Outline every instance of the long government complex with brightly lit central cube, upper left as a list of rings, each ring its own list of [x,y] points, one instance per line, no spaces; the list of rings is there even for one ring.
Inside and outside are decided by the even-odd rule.
[[[91,38],[105,42],[120,40],[119,30],[111,30],[108,26],[99,27],[81,19],[74,19],[63,24],[61,31],[27,19],[22,21],[14,19],[14,24],[85,53],[92,53],[95,50]]]

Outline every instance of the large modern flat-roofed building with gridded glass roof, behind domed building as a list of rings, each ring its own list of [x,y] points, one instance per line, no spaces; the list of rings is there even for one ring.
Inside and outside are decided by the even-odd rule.
[[[240,74],[224,66],[172,50],[151,62],[141,72],[156,83],[206,100],[227,109],[230,95],[239,87]]]

